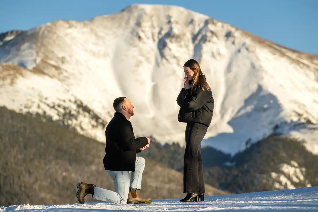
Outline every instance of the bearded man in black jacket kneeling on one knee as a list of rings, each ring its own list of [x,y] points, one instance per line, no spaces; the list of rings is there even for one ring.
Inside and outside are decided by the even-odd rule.
[[[103,163],[114,180],[115,192],[94,184],[78,182],[76,197],[79,203],[84,203],[87,194],[91,194],[93,199],[115,204],[151,203],[150,198],[143,198],[137,193],[141,188],[146,161],[142,157],[136,157],[136,153],[149,147],[150,140],[147,137],[135,138],[129,121],[134,115],[134,106],[129,99],[119,97],[114,100],[113,106],[116,112],[106,127],[106,154]]]

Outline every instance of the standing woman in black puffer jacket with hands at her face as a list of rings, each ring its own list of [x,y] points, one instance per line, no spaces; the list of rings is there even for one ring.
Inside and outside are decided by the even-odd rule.
[[[178,121],[187,123],[183,166],[183,193],[180,202],[204,201],[204,176],[201,141],[211,124],[214,99],[199,63],[190,59],[183,65],[184,87],[177,97]]]

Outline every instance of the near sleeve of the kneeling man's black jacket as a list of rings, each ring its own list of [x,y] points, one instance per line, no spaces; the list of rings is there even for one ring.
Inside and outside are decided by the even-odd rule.
[[[125,125],[119,129],[117,145],[123,151],[136,151],[148,144],[148,139],[146,137],[135,138],[131,128],[131,124],[125,123]]]

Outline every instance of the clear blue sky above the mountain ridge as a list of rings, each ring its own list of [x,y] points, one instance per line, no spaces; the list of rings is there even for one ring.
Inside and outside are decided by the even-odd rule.
[[[0,32],[89,20],[133,3],[182,6],[289,48],[318,54],[318,0],[2,0]]]

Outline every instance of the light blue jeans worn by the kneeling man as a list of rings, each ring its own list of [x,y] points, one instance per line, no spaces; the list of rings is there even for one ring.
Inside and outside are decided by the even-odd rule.
[[[141,188],[142,172],[145,168],[145,159],[136,157],[136,169],[131,173],[131,180],[129,179],[128,171],[109,171],[107,173],[114,180],[114,191],[104,188],[93,187],[92,198],[103,202],[113,202],[115,204],[127,204],[129,187]]]

